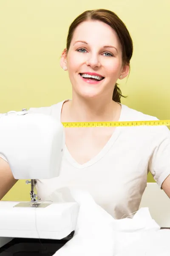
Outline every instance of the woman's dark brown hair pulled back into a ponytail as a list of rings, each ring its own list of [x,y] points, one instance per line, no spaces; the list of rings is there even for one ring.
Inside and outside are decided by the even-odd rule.
[[[120,20],[120,18],[112,11],[105,10],[105,9],[96,9],[96,10],[88,10],[80,14],[70,25],[68,30],[68,36],[67,36],[67,51],[70,48],[71,40],[74,34],[74,30],[77,28],[77,26],[87,20],[99,20],[102,21],[109,26],[111,26],[112,29],[116,32],[121,47],[122,47],[122,63],[123,65],[127,64],[130,67],[130,59],[133,54],[133,41],[130,37],[130,34],[127,30],[127,27],[125,24]],[[122,95],[122,92],[120,88],[118,87],[118,84],[115,84],[114,90],[113,90],[113,96],[112,99],[115,102],[120,103],[121,97],[124,97]]]

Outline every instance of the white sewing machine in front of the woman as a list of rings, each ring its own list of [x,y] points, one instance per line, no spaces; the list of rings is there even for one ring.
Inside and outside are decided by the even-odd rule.
[[[10,111],[0,114],[0,154],[15,179],[31,180],[31,201],[0,201],[0,247],[13,238],[63,239],[75,230],[76,202],[41,202],[36,179],[59,176],[65,143],[63,125],[51,116]]]

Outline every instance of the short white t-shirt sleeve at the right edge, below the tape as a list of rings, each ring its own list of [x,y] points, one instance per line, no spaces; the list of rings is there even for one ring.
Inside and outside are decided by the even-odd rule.
[[[170,130],[166,126],[151,129],[151,156],[148,170],[161,188],[170,175]]]

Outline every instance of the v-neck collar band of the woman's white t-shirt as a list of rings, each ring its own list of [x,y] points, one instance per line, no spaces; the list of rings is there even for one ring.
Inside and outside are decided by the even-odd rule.
[[[65,102],[69,101],[68,100],[64,100],[62,102],[60,102],[60,106],[59,106],[59,116],[58,119],[61,122],[61,113],[62,113],[62,107],[64,105]],[[119,116],[119,121],[122,121],[122,116],[123,116],[123,109],[124,109],[124,105],[121,104],[121,113]],[[65,159],[75,168],[77,169],[84,169],[87,168],[89,166],[94,165],[95,163],[97,163],[100,159],[102,159],[102,157],[105,156],[105,154],[110,150],[110,148],[113,146],[113,144],[115,143],[115,141],[117,140],[117,138],[119,137],[119,133],[120,133],[121,129],[120,127],[116,127],[116,129],[113,131],[113,134],[111,135],[110,139],[108,140],[108,142],[105,144],[105,146],[101,149],[101,151],[99,151],[99,153],[92,157],[91,160],[87,161],[86,163],[80,164],[78,163],[70,154],[67,145],[65,144]]]

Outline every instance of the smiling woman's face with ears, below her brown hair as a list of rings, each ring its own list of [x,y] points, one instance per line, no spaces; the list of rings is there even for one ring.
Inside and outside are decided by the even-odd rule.
[[[101,21],[85,21],[74,31],[70,48],[61,58],[61,67],[68,70],[73,95],[85,98],[112,98],[120,75],[128,75],[122,66],[122,50],[116,32]]]

